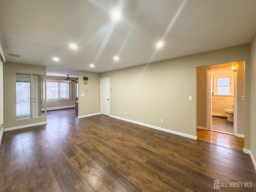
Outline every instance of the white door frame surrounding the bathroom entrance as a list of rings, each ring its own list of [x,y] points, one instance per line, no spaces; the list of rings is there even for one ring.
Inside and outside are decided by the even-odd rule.
[[[209,130],[210,127],[210,111],[212,110],[211,100],[209,100],[210,87],[209,87],[209,76],[212,71],[220,71],[220,70],[230,70],[230,68],[217,68],[217,69],[208,69],[206,70],[206,130]],[[237,136],[237,72],[234,72],[234,136]]]

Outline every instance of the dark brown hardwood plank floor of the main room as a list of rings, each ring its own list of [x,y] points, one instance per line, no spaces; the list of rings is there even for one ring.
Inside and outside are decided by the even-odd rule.
[[[47,115],[47,125],[4,133],[0,191],[256,191],[243,152],[74,109]],[[214,190],[216,179],[252,187]]]

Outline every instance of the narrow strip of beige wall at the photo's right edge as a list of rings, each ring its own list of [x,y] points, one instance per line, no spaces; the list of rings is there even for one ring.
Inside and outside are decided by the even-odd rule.
[[[250,148],[246,148],[251,150],[254,160],[256,160],[256,38],[251,44],[251,100],[250,100]],[[249,99],[246,97],[246,100]],[[254,162],[255,163],[255,162]],[[254,164],[256,168],[256,164]]]

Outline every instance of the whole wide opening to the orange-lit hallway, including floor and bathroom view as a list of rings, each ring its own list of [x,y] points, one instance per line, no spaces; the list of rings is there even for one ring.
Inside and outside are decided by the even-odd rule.
[[[196,68],[196,128],[198,140],[242,151],[245,61],[239,64],[237,72],[231,63]]]

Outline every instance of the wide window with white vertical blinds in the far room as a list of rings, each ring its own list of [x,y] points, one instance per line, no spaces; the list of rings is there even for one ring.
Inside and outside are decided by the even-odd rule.
[[[71,100],[71,82],[46,80],[46,101]]]

